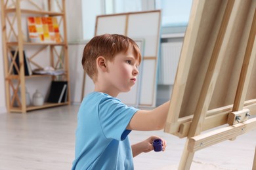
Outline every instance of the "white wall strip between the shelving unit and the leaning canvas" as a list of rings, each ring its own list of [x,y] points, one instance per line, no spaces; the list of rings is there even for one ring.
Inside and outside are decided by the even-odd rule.
[[[83,1],[85,3],[87,1]],[[87,2],[88,3],[88,2]],[[70,71],[70,100],[72,104],[79,104],[81,101],[83,84],[83,67],[81,58],[83,46],[83,21],[82,1],[66,1],[67,28],[68,28],[68,57]],[[85,9],[83,9],[85,10]],[[93,16],[92,16],[93,17]]]

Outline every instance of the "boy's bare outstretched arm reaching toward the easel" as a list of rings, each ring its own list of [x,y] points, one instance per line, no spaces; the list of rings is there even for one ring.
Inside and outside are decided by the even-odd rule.
[[[169,110],[170,101],[153,110],[138,110],[127,129],[139,131],[153,131],[163,129]]]

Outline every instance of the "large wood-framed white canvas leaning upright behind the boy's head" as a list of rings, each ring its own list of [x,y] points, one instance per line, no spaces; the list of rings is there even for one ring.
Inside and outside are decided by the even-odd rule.
[[[140,49],[142,49],[143,55],[140,64],[139,84],[138,87],[135,87],[138,88],[135,98],[137,101],[133,101],[134,99],[131,98],[134,95],[120,94],[118,96],[127,105],[138,107],[155,107],[156,105],[160,18],[160,10],[110,14],[96,18],[95,35],[117,33],[126,35],[135,41],[141,40],[137,42],[141,45]],[[86,91],[89,88],[89,83],[90,80],[85,78]]]

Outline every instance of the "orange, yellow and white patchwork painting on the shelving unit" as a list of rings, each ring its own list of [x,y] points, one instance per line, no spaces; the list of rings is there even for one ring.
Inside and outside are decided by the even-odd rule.
[[[31,42],[61,42],[56,17],[30,16],[27,21]]]

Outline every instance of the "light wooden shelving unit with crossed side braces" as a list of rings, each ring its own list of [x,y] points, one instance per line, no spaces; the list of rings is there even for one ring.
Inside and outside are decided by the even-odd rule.
[[[70,104],[70,86],[68,86],[68,97],[64,103],[44,103],[41,106],[26,106],[26,80],[28,78],[40,78],[50,76],[51,80],[65,80],[69,82],[68,71],[68,41],[66,34],[66,11],[65,0],[46,0],[36,3],[32,0],[1,0],[1,24],[3,34],[3,58],[5,65],[5,88],[8,112],[27,112],[29,110],[43,109],[47,107],[55,107]],[[42,3],[43,2],[43,3]],[[24,5],[27,3],[29,5]],[[47,7],[46,7],[47,6]],[[27,9],[27,7],[29,9]],[[26,30],[24,29],[24,18],[26,16],[54,16],[58,20],[61,42],[30,42],[26,41]],[[31,65],[37,69],[43,69],[40,62],[35,61],[41,52],[47,52],[50,59],[50,65],[54,69],[64,69],[63,75],[30,75],[26,76],[24,72],[24,56],[23,51],[31,50],[31,48],[39,48],[35,54],[28,57]],[[15,56],[11,55],[11,50],[18,52],[19,73],[12,73],[13,67],[16,67]],[[42,60],[42,59],[41,59]],[[18,89],[20,88],[20,97],[18,97]],[[18,107],[14,107],[14,101],[18,103]]]

